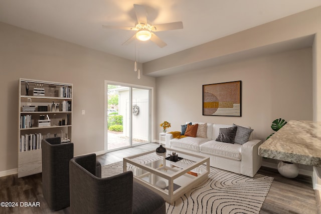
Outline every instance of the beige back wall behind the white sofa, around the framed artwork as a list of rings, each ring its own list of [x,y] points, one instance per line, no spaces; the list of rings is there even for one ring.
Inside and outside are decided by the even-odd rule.
[[[202,85],[242,81],[242,117],[203,116]],[[156,121],[181,130],[186,121],[251,126],[264,140],[271,122],[312,120],[312,49],[278,53],[156,78]],[[158,131],[161,128],[158,127]]]

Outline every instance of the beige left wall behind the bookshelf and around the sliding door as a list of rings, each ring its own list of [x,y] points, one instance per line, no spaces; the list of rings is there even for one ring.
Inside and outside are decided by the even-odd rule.
[[[155,86],[152,77],[137,79],[132,61],[4,23],[0,47],[0,172],[18,166],[20,77],[73,83],[75,155],[104,150],[104,80]]]

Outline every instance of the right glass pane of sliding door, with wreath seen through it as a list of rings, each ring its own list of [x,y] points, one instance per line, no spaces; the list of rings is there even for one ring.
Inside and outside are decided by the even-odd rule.
[[[150,142],[149,91],[132,88],[132,145]]]

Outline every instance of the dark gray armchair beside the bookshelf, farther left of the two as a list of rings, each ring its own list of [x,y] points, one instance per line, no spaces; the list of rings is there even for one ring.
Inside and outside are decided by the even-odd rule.
[[[69,206],[69,161],[73,143],[60,143],[60,137],[42,140],[42,191],[49,208]]]

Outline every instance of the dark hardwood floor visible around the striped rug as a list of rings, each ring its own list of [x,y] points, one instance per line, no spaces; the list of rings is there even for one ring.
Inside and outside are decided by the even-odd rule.
[[[157,143],[127,148],[97,156],[101,165],[122,160],[123,157],[153,150]],[[260,213],[318,213],[311,177],[299,175],[294,179],[281,176],[276,169],[261,167],[260,174],[274,177]],[[7,213],[69,213],[69,208],[53,211],[48,208],[42,194],[40,174],[18,178],[17,174],[0,177],[0,202],[18,202],[16,207],[1,207],[0,214]],[[20,206],[20,202],[40,202],[40,206]]]

